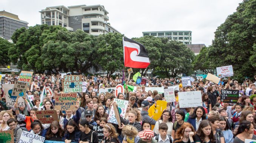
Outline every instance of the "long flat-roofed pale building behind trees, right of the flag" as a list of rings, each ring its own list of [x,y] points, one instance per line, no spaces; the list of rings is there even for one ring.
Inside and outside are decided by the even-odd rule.
[[[154,32],[142,32],[143,36],[152,35],[155,37],[166,37],[169,40],[177,40],[183,42],[183,44],[192,44],[191,31],[154,31]]]

